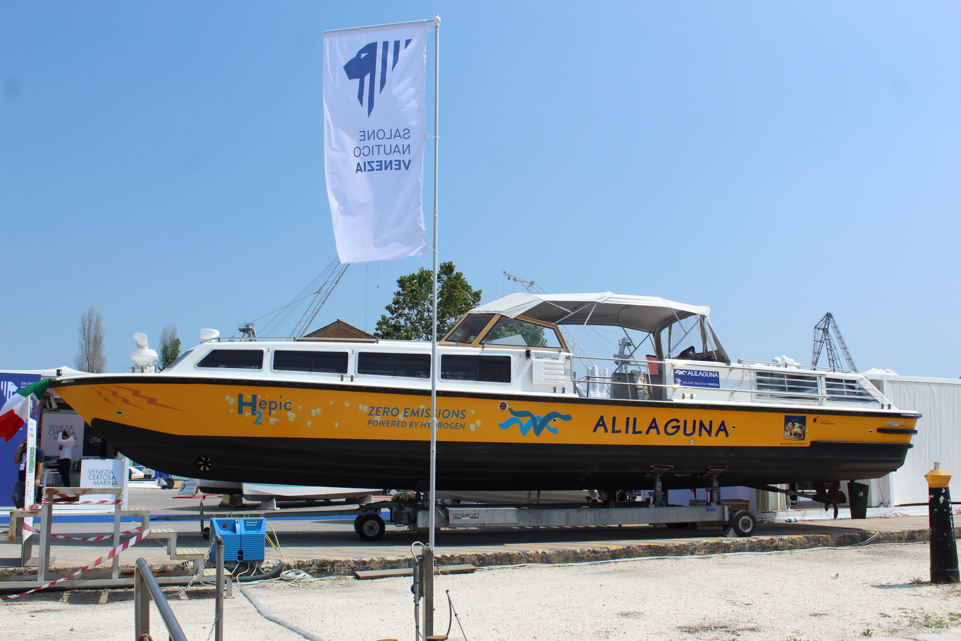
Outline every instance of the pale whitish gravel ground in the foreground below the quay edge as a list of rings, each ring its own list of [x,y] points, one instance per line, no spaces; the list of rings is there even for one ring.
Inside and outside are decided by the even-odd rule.
[[[912,582],[927,577],[927,565],[927,545],[885,545],[482,570],[437,577],[437,628],[447,629],[450,590],[472,641],[912,638],[961,626],[961,587]],[[253,590],[275,615],[324,639],[412,641],[409,585],[324,579]],[[225,639],[302,639],[234,594]],[[208,638],[212,597],[191,588],[171,599],[187,638]],[[132,598],[131,590],[29,595],[0,604],[0,622],[17,639],[129,639]],[[155,638],[163,638],[156,610],[152,622]],[[451,638],[461,638],[456,623]]]

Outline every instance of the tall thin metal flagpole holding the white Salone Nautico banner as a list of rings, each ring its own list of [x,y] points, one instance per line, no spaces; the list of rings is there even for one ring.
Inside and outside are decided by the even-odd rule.
[[[433,634],[433,555],[436,530],[437,503],[437,151],[440,127],[440,16],[433,16],[433,296],[431,310],[431,489],[428,509],[431,518],[424,600],[424,635]]]

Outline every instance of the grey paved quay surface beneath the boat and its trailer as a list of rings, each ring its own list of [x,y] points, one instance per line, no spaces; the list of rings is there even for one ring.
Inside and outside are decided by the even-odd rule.
[[[173,492],[164,490],[134,489],[131,505],[150,507],[154,514],[194,513],[199,510],[195,501],[173,499]],[[235,507],[219,507],[217,499],[205,502],[205,511],[239,511]],[[249,509],[254,509],[251,505]],[[344,505],[339,505],[344,508]],[[352,507],[348,505],[346,507]],[[323,508],[322,506],[311,509]],[[332,506],[332,509],[334,506]],[[267,515],[269,517],[269,512]],[[126,522],[125,522],[126,523]],[[375,558],[409,555],[410,543],[422,540],[425,534],[408,532],[387,526],[381,541],[361,541],[354,532],[353,516],[332,516],[307,520],[272,520],[271,527],[277,531],[286,556],[298,559],[316,558]],[[130,522],[130,525],[137,525]],[[209,525],[209,523],[208,523]],[[197,521],[155,522],[155,527],[171,528],[183,532],[178,536],[180,547],[207,547],[199,532]],[[838,520],[801,523],[759,524],[757,536],[786,536],[835,532],[861,533],[865,538],[876,530],[914,530],[927,527],[927,517],[900,517],[889,519]],[[54,532],[91,536],[109,533],[110,523],[55,523]],[[498,530],[446,530],[437,535],[440,554],[502,553],[529,550],[576,550],[580,548],[617,547],[638,543],[672,543],[717,540],[721,530],[670,530],[667,528],[604,527],[564,529],[498,529]],[[111,548],[111,540],[100,542],[65,541],[55,539],[51,555],[57,566],[77,566],[102,555]],[[121,563],[133,563],[143,556],[150,562],[160,562],[167,556],[160,541],[144,541],[121,555]],[[268,547],[268,558],[279,558]],[[0,540],[0,565],[13,564],[19,558],[19,543]]]

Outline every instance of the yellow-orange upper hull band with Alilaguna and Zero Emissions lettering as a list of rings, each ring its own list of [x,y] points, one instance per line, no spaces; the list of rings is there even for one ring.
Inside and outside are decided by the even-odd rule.
[[[275,383],[276,385],[276,383]],[[428,440],[430,398],[390,391],[275,385],[122,382],[68,384],[57,391],[94,418],[185,436]],[[426,401],[426,403],[425,403]],[[616,406],[512,397],[438,397],[442,441],[590,445],[806,447],[812,441],[909,443],[915,418],[858,416],[831,407]]]

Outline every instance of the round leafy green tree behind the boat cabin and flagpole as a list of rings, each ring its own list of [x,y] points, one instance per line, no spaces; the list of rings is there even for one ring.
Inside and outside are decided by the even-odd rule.
[[[394,300],[386,306],[374,335],[398,340],[431,340],[431,270],[421,267],[397,279]],[[453,262],[437,270],[437,338],[446,333],[457,316],[480,303],[480,289],[467,283]]]

